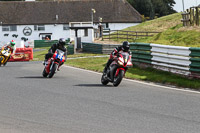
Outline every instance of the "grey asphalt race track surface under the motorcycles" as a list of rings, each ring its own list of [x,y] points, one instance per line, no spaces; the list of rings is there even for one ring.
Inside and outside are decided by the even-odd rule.
[[[42,62],[0,67],[0,133],[199,133],[200,93],[63,66],[52,79]]]

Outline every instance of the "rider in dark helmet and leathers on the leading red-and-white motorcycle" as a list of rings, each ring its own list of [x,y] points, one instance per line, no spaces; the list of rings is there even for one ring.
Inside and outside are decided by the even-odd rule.
[[[110,58],[106,64],[106,67],[104,69],[104,72],[107,71],[108,67],[110,66],[110,64],[114,61],[114,58],[117,56],[117,54],[120,52],[120,51],[124,51],[124,52],[128,52],[129,55],[131,55],[131,51],[130,51],[130,43],[128,41],[124,41],[122,43],[121,46],[118,46],[116,47],[110,54]]]

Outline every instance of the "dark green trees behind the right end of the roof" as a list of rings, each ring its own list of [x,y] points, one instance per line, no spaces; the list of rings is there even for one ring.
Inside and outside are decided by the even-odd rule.
[[[141,15],[154,19],[156,16],[166,16],[176,11],[174,0],[127,0]]]

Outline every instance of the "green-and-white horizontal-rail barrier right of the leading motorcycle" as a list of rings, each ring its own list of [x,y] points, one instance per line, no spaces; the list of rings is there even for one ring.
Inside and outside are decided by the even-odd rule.
[[[132,43],[134,64],[200,78],[200,48]]]

